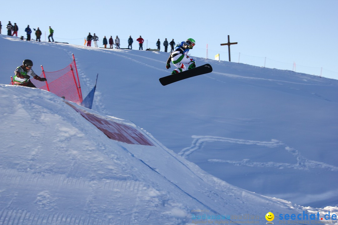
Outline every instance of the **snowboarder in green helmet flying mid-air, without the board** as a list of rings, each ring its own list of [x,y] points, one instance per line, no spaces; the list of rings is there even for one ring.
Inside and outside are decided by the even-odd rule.
[[[187,69],[193,69],[196,67],[195,60],[188,56],[188,52],[195,46],[195,40],[188,38],[186,41],[182,41],[181,44],[176,45],[174,51],[170,54],[166,68],[170,68],[170,61],[177,67],[171,74],[177,74]]]

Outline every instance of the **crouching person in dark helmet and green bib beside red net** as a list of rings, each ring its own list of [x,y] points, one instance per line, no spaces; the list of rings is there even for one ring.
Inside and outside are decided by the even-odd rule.
[[[14,71],[15,76],[13,78],[13,84],[26,87],[35,87],[35,85],[30,81],[30,76],[32,76],[35,80],[47,81],[46,78],[39,77],[37,74],[35,74],[32,70],[32,66],[32,60],[23,60],[22,66],[18,66],[18,68]]]

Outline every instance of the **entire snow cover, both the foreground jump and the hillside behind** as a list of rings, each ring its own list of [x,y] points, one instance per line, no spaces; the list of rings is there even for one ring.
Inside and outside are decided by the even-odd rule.
[[[74,53],[83,94],[99,73],[90,112],[156,138],[140,130],[156,146],[113,141],[51,93],[1,85],[0,224],[185,224],[203,208],[263,222],[269,211],[303,212],[293,203],[337,205],[336,80],[198,58],[213,73],[163,87],[167,53],[0,43],[0,83],[24,58],[39,73]]]

